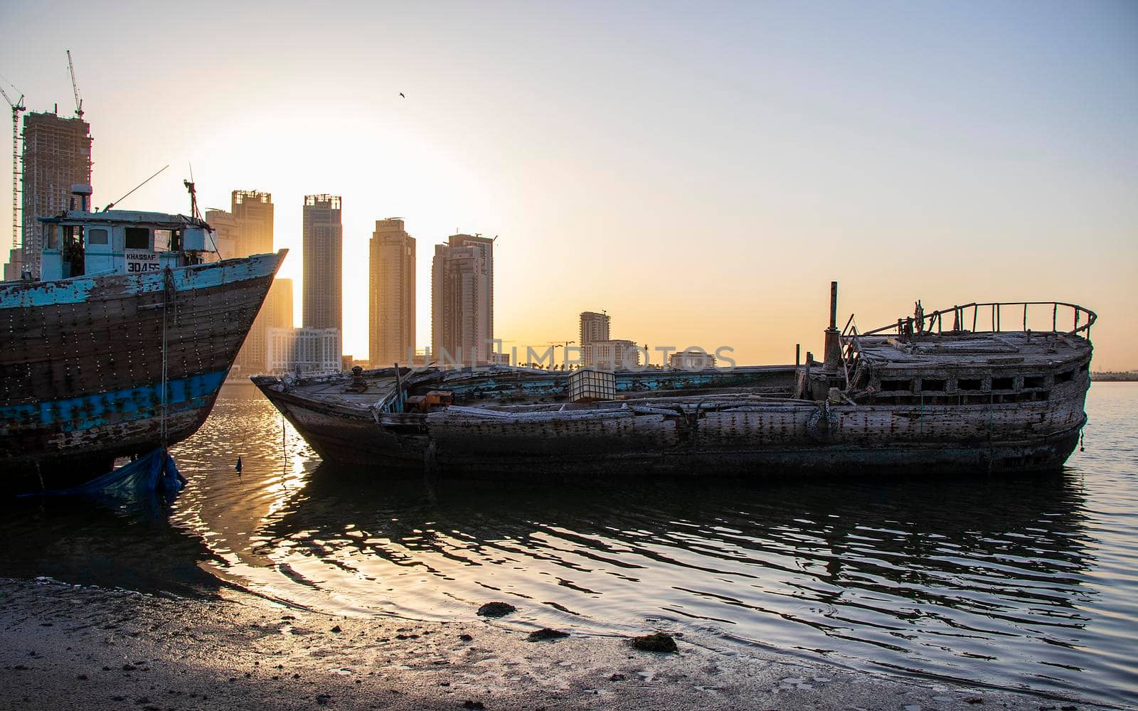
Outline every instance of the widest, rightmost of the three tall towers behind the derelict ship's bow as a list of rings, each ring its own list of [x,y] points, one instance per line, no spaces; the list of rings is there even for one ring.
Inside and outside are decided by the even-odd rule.
[[[431,359],[488,363],[494,339],[494,240],[452,234],[431,263]]]

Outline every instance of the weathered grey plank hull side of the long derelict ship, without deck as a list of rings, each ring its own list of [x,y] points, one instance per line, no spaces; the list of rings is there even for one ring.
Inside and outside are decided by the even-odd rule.
[[[1086,378],[1086,375],[1083,375]],[[376,414],[257,379],[324,460],[378,470],[533,478],[582,474],[777,474],[1052,470],[1086,415],[1086,383],[1049,400],[989,405],[830,405],[770,399],[683,416],[630,407],[566,416],[486,416],[451,407]],[[823,424],[824,422],[824,424]]]

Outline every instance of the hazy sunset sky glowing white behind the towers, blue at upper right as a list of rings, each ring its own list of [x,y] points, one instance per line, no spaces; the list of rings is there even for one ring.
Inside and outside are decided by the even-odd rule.
[[[925,309],[1098,313],[1138,369],[1138,3],[0,2],[0,75],[94,138],[94,204],[275,204],[300,319],[300,206],[344,199],[345,353],[368,240],[498,235],[495,336],[820,357],[830,281],[861,330]],[[406,94],[403,99],[399,92]],[[0,224],[10,224],[0,200]],[[7,254],[7,250],[5,250]],[[5,257],[7,258],[7,257]],[[1049,309],[1046,309],[1049,325]]]

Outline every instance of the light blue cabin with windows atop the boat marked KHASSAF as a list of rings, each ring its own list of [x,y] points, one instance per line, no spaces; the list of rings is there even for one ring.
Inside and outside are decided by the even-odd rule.
[[[126,209],[40,217],[40,279],[158,272],[209,261],[217,235],[200,218]]]

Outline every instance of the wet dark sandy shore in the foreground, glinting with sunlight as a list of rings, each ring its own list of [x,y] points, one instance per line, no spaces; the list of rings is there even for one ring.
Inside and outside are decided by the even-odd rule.
[[[475,609],[451,622],[343,618],[234,590],[178,598],[0,578],[11,709],[1102,708],[884,678],[761,648],[674,654],[629,639],[530,642]],[[645,630],[652,631],[652,630]]]

